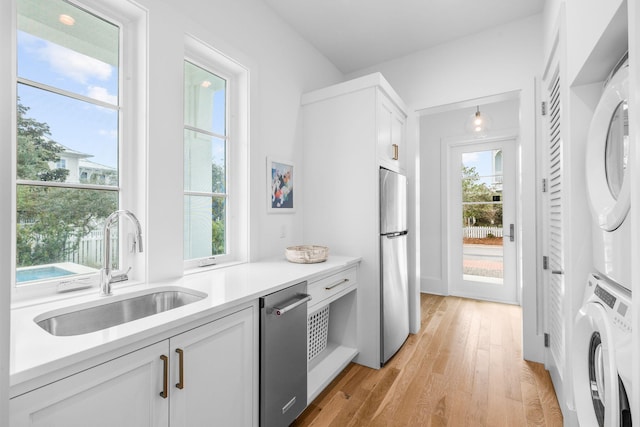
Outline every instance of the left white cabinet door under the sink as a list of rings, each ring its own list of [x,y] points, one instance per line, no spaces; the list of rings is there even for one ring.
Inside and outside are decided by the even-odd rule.
[[[163,341],[10,401],[12,427],[165,427]]]

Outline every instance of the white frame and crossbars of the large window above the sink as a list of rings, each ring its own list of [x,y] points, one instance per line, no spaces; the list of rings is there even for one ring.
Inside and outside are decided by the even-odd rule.
[[[119,75],[118,75],[118,105],[116,111],[118,112],[118,185],[91,185],[82,183],[69,183],[63,185],[56,185],[53,183],[52,187],[63,188],[77,188],[81,190],[85,189],[99,189],[104,191],[118,191],[118,209],[129,209],[136,213],[138,218],[141,219],[143,227],[143,237],[145,236],[144,229],[146,221],[142,221],[142,218],[146,216],[146,205],[144,203],[144,189],[146,188],[145,171],[136,171],[134,169],[140,167],[140,169],[146,168],[146,161],[144,156],[147,150],[147,119],[146,119],[146,74],[147,65],[146,58],[140,55],[140,52],[146,52],[146,29],[147,29],[147,13],[139,6],[131,3],[129,0],[116,0],[105,5],[100,0],[64,0],[67,3],[87,12],[91,13],[105,21],[116,25],[119,28]],[[17,13],[17,8],[16,8]],[[17,35],[18,25],[17,20],[14,20],[13,33]],[[17,106],[17,87],[22,84],[21,78],[17,74],[17,37],[14,42],[14,87],[15,87],[15,99],[14,99],[14,111]],[[47,85],[44,86],[49,89]],[[145,88],[145,89],[140,89]],[[67,95],[66,91],[54,90],[54,93],[61,93]],[[82,96],[73,96],[73,99],[82,99]],[[91,100],[95,105],[99,105],[100,101]],[[113,106],[111,106],[113,108]],[[17,115],[14,113],[13,118],[14,128],[17,126]],[[16,166],[17,159],[15,157],[17,148],[17,133],[13,132],[12,150],[13,150],[13,162],[12,162],[12,185],[16,189],[18,183],[25,183],[26,180],[17,179]],[[129,141],[139,141],[135,144]],[[135,165],[135,166],[134,166]],[[146,170],[146,169],[145,169]],[[141,179],[142,178],[142,179]],[[28,184],[28,182],[26,182]],[[50,185],[48,183],[47,185]],[[60,183],[59,183],[60,184]],[[33,281],[26,284],[18,284],[16,281],[16,224],[17,224],[17,194],[12,198],[12,211],[13,211],[13,230],[12,230],[12,304],[25,304],[29,301],[40,300],[41,298],[50,299],[56,295],[62,297],[64,294],[59,289],[62,283],[71,283],[77,285],[89,285],[90,290],[87,292],[95,292],[95,288],[99,286],[100,272],[93,272],[88,274],[74,274],[71,276],[64,276],[62,278],[43,279],[39,281]],[[124,222],[123,222],[124,223]],[[125,231],[128,231],[127,227],[118,227],[119,238],[119,265],[131,266],[133,274],[129,274],[129,281],[123,282],[116,286],[128,286],[139,283],[146,277],[146,261],[145,257],[138,254],[131,254],[126,250],[126,239],[123,238]],[[143,243],[144,244],[144,243]],[[86,287],[86,286],[85,286]]]

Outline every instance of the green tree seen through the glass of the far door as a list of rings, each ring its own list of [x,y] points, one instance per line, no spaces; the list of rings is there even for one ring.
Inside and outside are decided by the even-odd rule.
[[[502,204],[493,203],[495,189],[480,181],[475,167],[462,166],[462,226],[502,225]]]

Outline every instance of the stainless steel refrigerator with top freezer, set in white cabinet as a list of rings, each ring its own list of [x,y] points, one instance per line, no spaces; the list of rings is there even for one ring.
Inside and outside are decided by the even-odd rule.
[[[409,336],[407,178],[380,168],[380,364]]]

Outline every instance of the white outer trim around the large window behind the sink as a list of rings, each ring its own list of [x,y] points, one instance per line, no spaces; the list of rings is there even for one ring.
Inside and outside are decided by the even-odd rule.
[[[67,0],[75,6],[100,16],[105,20],[118,25],[121,28],[120,35],[120,76],[119,76],[119,141],[135,141],[119,145],[118,169],[120,174],[119,208],[129,209],[139,218],[143,228],[143,239],[146,236],[147,224],[146,188],[147,188],[147,11],[129,0],[115,0],[104,4],[101,0]],[[17,32],[17,20],[13,20],[13,34]],[[15,42],[14,42],[15,43]],[[17,51],[13,51],[13,63],[17,63]],[[18,82],[18,76],[14,74],[14,85]],[[123,96],[127,94],[127,96]],[[16,93],[17,96],[17,93]],[[17,100],[14,100],[17,101]],[[14,105],[16,103],[14,102]],[[15,108],[15,107],[14,107]],[[15,117],[13,126],[15,127]],[[12,185],[16,188],[16,143],[17,135],[13,132],[13,172]],[[135,185],[128,185],[135,183]],[[16,196],[12,197],[12,211],[14,224],[12,230],[12,279],[11,301],[12,306],[24,306],[47,302],[53,299],[69,298],[86,293],[96,292],[99,282],[99,273],[89,275],[74,275],[61,279],[44,280],[30,284],[16,286]],[[122,229],[122,227],[120,228]],[[119,239],[121,256],[128,254],[124,248],[126,239]],[[146,242],[143,242],[146,247]],[[145,253],[123,259],[127,265],[132,266],[129,281],[115,286],[130,286],[140,283],[147,277],[147,256]],[[92,287],[86,291],[77,291],[72,294],[60,293],[58,286],[61,282],[75,279],[89,278]]]

